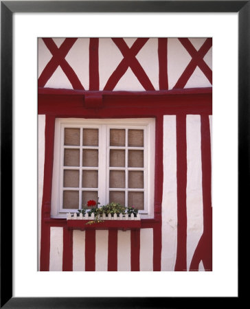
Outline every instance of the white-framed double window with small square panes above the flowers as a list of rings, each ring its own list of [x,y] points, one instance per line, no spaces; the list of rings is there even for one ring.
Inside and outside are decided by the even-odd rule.
[[[155,119],[58,118],[52,217],[115,202],[153,217]]]

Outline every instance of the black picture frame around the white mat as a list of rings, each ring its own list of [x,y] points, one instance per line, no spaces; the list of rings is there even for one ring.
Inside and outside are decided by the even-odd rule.
[[[12,15],[15,12],[238,12],[238,209],[249,205],[250,1],[1,1],[1,308],[179,308],[212,297],[12,297]],[[8,204],[8,207],[4,205]],[[240,237],[239,237],[240,239]],[[239,293],[240,296],[240,293]],[[231,304],[240,297],[232,297]],[[206,301],[206,303],[204,303]],[[216,305],[219,305],[218,298]],[[223,301],[223,299],[222,299]],[[185,307],[185,306],[184,306]]]

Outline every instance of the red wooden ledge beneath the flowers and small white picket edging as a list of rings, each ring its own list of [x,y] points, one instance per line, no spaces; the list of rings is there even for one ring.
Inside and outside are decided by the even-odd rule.
[[[67,226],[73,229],[139,229],[141,220],[104,220],[104,222],[87,225],[91,220],[67,220]]]

